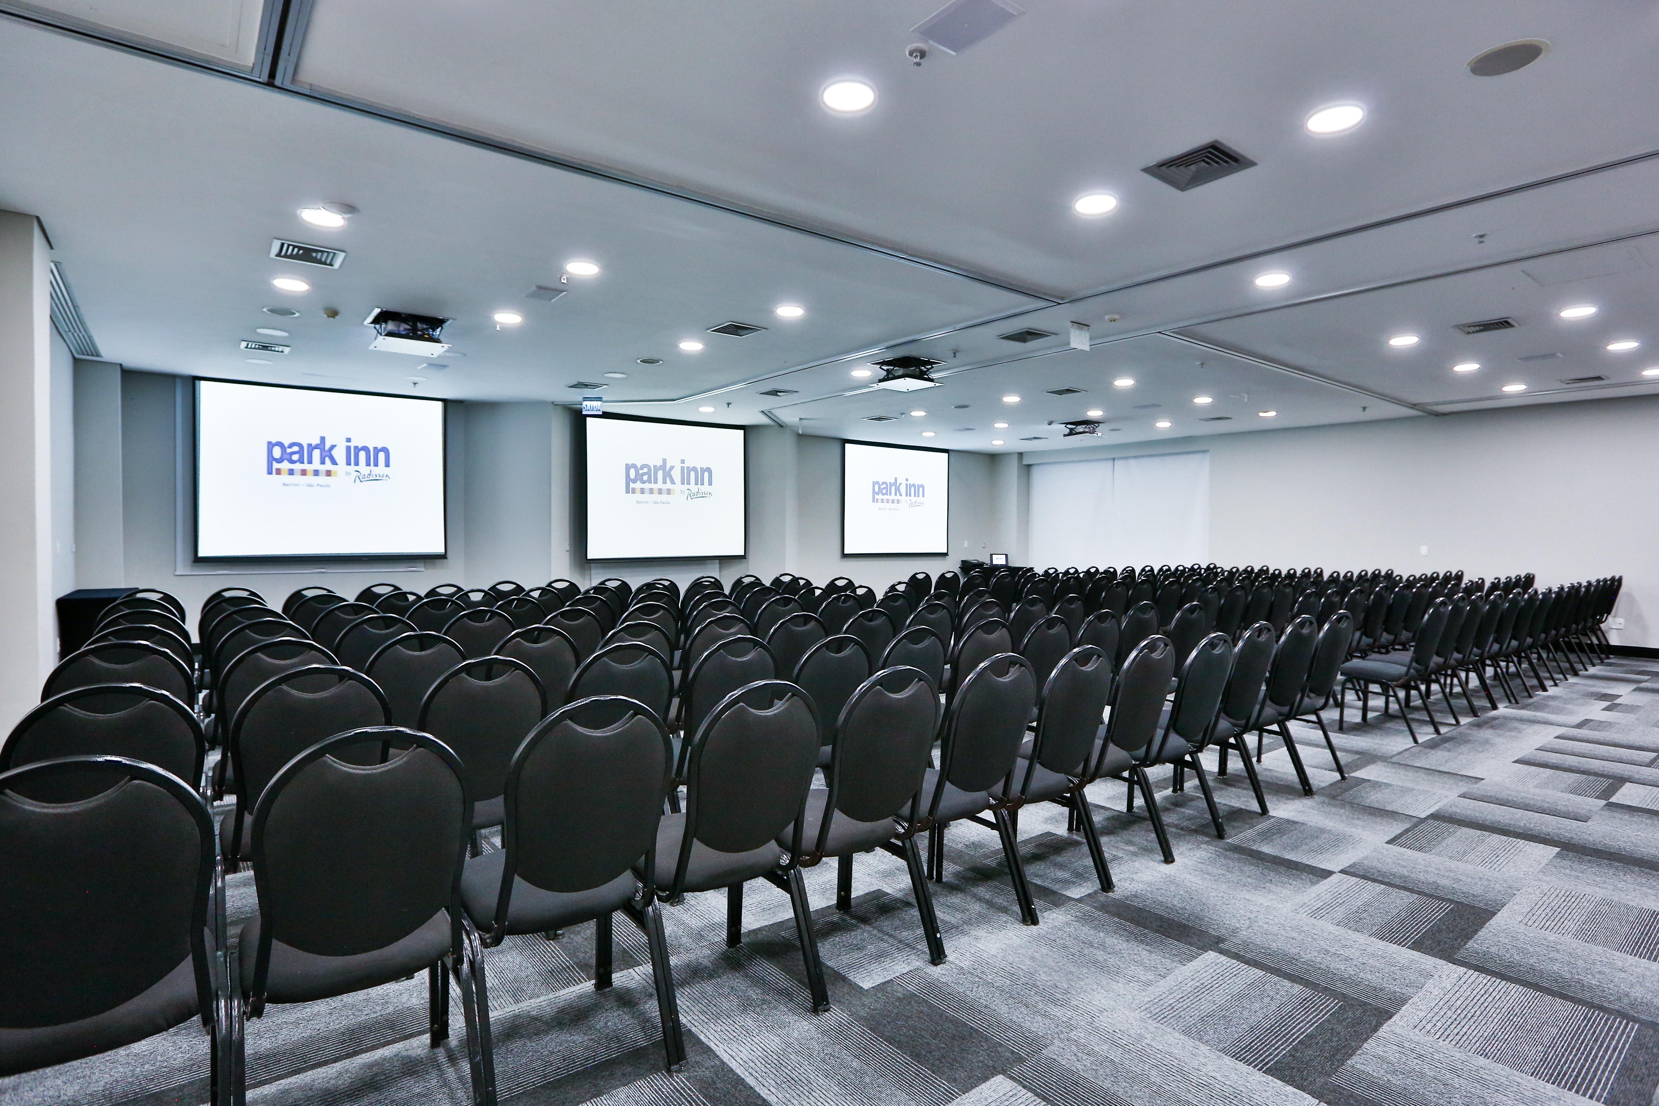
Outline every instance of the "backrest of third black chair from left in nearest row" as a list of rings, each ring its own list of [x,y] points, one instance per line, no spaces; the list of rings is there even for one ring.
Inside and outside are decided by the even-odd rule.
[[[586,700],[536,723],[508,766],[493,940],[506,934],[514,879],[581,894],[644,857],[652,890],[652,846],[672,773],[669,731],[632,700]]]

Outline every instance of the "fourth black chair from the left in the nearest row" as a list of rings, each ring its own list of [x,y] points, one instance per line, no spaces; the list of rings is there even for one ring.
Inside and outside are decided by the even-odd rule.
[[[644,879],[647,864],[655,864],[657,897],[665,902],[723,887],[728,947],[743,942],[743,884],[765,879],[783,890],[795,907],[813,1013],[823,1013],[830,992],[800,871],[816,763],[818,720],[800,688],[763,680],[733,691],[692,740],[685,813],[662,817],[655,852],[635,874]]]

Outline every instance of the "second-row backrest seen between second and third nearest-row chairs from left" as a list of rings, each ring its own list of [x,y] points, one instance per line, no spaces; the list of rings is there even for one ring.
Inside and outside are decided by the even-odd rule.
[[[513,751],[546,715],[547,695],[529,665],[479,657],[443,673],[426,691],[416,728],[455,749],[466,798],[476,804],[501,794]]]

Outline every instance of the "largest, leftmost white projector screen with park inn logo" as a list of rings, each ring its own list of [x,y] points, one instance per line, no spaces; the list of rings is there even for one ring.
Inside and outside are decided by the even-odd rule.
[[[443,401],[196,381],[196,559],[443,557]]]

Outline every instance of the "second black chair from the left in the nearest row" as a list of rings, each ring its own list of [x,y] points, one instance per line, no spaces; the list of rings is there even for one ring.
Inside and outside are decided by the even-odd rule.
[[[385,748],[398,751],[375,763]],[[433,1048],[450,1036],[455,970],[483,1106],[496,1089],[479,942],[461,907],[473,821],[461,773],[441,741],[395,726],[338,733],[284,764],[254,809],[259,914],[242,927],[237,960],[251,1018],[267,1003],[333,998],[425,968]],[[237,1031],[237,1051],[242,1040]],[[232,1066],[241,1084],[244,1065]]]

